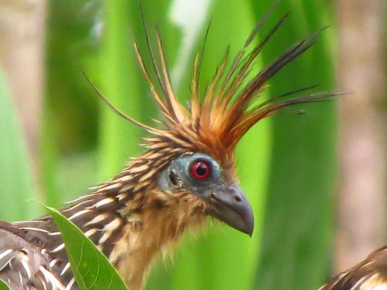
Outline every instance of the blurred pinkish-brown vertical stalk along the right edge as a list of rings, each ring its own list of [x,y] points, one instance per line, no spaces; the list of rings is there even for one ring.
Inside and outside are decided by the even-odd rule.
[[[335,270],[385,244],[384,0],[339,0],[338,227]]]

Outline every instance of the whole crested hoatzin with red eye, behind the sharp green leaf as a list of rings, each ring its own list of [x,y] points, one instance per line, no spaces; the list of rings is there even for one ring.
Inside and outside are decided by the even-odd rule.
[[[152,96],[164,115],[164,120],[158,121],[161,128],[144,125],[108,102],[116,113],[152,135],[145,138],[147,151],[128,162],[120,174],[61,210],[101,249],[130,290],[142,288],[144,276],[159,252],[168,251],[185,229],[203,225],[207,216],[251,235],[252,207],[235,175],[236,144],[255,123],[278,109],[326,101],[336,95],[308,93],[315,87],[311,86],[259,99],[267,81],[310,48],[323,30],[302,39],[250,78],[256,56],[287,17],[250,48],[271,10],[232,61],[228,61],[226,50],[204,96],[199,96],[202,52],[197,54],[187,107],[172,89],[159,32],[154,50],[144,22],[156,83],[139,47],[134,47]],[[78,289],[64,247],[51,217],[1,222],[0,278],[13,290]]]

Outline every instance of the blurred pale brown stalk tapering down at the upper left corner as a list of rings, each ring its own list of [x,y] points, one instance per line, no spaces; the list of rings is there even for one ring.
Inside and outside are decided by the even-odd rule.
[[[0,63],[37,169],[43,94],[44,0],[0,1]]]

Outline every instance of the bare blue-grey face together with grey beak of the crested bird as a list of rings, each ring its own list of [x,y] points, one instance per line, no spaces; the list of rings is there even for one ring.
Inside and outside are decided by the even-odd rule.
[[[209,165],[209,176],[204,179],[192,176],[191,167],[195,162]],[[185,189],[195,194],[209,205],[208,215],[252,235],[253,212],[246,195],[238,183],[226,181],[223,169],[209,155],[198,152],[177,157],[159,174],[158,185],[167,193]]]

